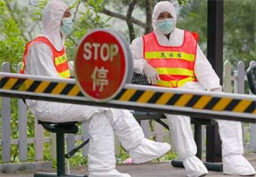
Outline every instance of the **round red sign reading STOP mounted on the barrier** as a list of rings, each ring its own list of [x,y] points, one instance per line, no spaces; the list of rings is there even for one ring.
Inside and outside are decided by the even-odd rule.
[[[75,75],[85,96],[107,101],[119,93],[128,70],[124,42],[112,30],[94,30],[82,39],[75,59]]]

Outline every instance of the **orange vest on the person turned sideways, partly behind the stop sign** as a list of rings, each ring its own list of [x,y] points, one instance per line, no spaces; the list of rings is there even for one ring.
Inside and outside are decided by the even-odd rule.
[[[59,76],[61,76],[61,78],[70,78],[69,64],[67,61],[67,56],[66,56],[64,47],[61,51],[57,51],[53,46],[53,44],[51,44],[51,42],[43,36],[39,36],[26,44],[25,52],[23,54],[22,68],[20,70],[20,73],[22,74],[24,73],[28,49],[30,45],[35,42],[43,42],[47,44],[49,47],[51,47],[51,50],[53,51],[53,63]]]

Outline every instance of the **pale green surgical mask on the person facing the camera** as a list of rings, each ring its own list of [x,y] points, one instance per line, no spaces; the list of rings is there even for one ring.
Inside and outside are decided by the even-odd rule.
[[[156,27],[160,30],[164,35],[167,35],[173,31],[174,28],[174,19],[163,19],[157,20]]]

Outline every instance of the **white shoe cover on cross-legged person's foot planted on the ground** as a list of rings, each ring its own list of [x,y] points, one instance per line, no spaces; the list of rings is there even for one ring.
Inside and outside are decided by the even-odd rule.
[[[127,173],[120,173],[116,169],[108,171],[90,171],[89,177],[131,177]]]

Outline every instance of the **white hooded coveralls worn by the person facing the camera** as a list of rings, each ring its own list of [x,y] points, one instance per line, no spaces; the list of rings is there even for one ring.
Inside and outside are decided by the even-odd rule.
[[[171,32],[169,39],[156,28],[157,18],[161,12],[169,12],[175,20],[174,30]],[[163,1],[156,4],[153,10],[153,29],[161,46],[181,46],[184,39],[184,30],[176,28],[176,20],[176,10],[171,3]],[[147,60],[143,58],[142,37],[134,39],[130,49],[134,57],[134,71],[143,73],[143,66],[147,64]],[[216,75],[199,46],[197,47],[194,71],[198,82],[188,82],[182,88],[197,91],[221,91],[220,78]],[[179,157],[184,159],[194,156],[197,153],[197,147],[190,126],[190,118],[183,115],[170,114],[166,114],[166,117],[168,118],[169,128]],[[222,155],[243,154],[241,122],[217,121],[222,141]]]

